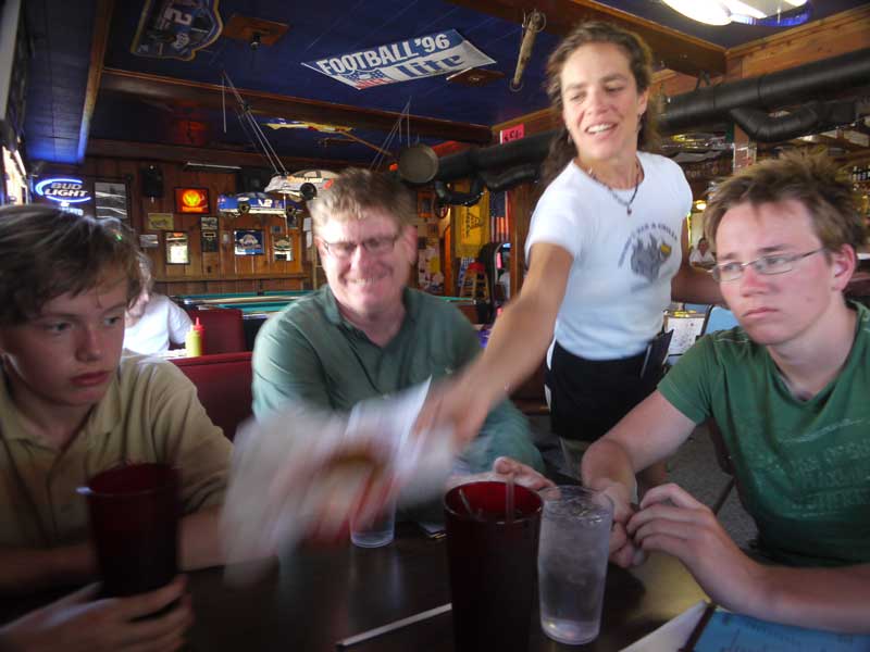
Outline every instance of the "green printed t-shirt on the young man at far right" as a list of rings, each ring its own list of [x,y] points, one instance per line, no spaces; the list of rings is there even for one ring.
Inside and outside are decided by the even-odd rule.
[[[853,308],[846,365],[808,401],[742,328],[701,338],[659,385],[695,423],[716,421],[760,542],[784,563],[870,563],[870,312]]]

